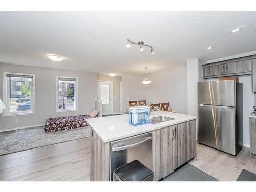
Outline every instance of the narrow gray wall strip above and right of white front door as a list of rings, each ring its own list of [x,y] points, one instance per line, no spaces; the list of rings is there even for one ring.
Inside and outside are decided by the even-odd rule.
[[[120,113],[120,82],[121,77],[98,75],[98,80],[113,82],[113,114]]]

